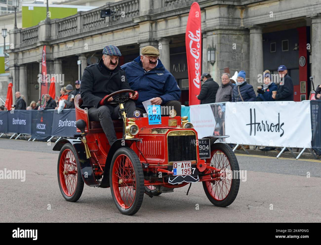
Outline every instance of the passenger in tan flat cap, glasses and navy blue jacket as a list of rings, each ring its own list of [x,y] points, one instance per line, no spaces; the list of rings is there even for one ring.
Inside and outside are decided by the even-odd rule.
[[[137,110],[142,114],[146,113],[143,101],[152,99],[152,104],[168,106],[176,110],[177,115],[180,116],[181,104],[178,100],[181,90],[174,76],[161,63],[159,56],[160,52],[157,48],[146,46],[142,48],[142,55],[122,65],[121,68],[126,72],[129,86],[139,93],[135,101]],[[167,113],[169,111],[161,110]]]

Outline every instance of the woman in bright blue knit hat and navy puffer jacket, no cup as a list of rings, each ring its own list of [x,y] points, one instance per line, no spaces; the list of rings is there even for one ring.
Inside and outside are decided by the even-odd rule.
[[[233,88],[232,102],[256,101],[256,94],[253,86],[246,82],[245,71],[241,70],[238,74],[236,86]]]

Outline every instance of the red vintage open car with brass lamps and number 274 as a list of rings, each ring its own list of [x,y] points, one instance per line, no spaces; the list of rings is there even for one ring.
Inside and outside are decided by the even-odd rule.
[[[162,116],[160,124],[150,124],[148,117],[128,118],[123,103],[129,97],[121,94],[128,92],[134,94],[132,90],[120,90],[105,99],[106,105],[120,105],[120,119],[113,121],[117,140],[111,146],[100,122],[89,121],[87,110],[81,108],[80,95],[75,97],[80,134],[74,137],[82,139],[60,139],[53,148],[60,151],[57,175],[63,197],[77,201],[84,183],[110,187],[118,210],[134,215],[144,194],[153,197],[202,182],[207,198],[215,206],[229,206],[239,190],[239,175],[234,174],[239,164],[229,146],[215,143],[228,136],[198,139],[192,123],[187,117],[176,116],[174,110],[171,116]]]

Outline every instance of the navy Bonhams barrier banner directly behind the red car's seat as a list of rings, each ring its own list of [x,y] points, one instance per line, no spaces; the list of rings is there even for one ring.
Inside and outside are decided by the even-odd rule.
[[[52,136],[74,137],[77,133],[76,114],[74,109],[64,109],[59,114],[53,111]]]

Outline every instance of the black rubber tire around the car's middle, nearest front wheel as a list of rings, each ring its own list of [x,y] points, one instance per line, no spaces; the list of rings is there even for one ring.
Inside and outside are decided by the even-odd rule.
[[[115,164],[115,160],[119,155],[126,155],[130,161],[132,162],[133,168],[134,168],[134,172],[135,172],[135,179],[136,179],[136,189],[135,189],[135,199],[134,202],[132,204],[131,207],[124,209],[122,208],[116,198],[115,198],[115,193],[113,191],[113,182],[112,182],[112,170],[113,170],[113,166]],[[116,207],[118,208],[119,212],[124,214],[124,215],[134,215],[135,213],[137,213],[137,211],[139,210],[139,208],[141,207],[142,203],[143,203],[143,197],[144,197],[144,174],[143,174],[143,168],[141,165],[141,162],[138,158],[138,156],[136,155],[136,153],[128,147],[122,147],[119,148],[112,160],[111,160],[111,164],[110,164],[110,170],[109,170],[109,183],[110,183],[110,191],[111,191],[111,195],[113,197],[113,200],[115,202]]]

